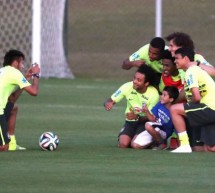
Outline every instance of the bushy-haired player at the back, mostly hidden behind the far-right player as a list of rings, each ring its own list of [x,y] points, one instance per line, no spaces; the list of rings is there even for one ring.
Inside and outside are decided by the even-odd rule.
[[[166,36],[165,39],[169,43],[169,51],[171,52],[173,57],[175,56],[175,51],[178,48],[188,47],[193,50],[195,49],[193,40],[186,33],[174,32],[174,33],[171,33],[168,36]],[[211,76],[215,76],[214,66],[212,66],[207,60],[205,60],[205,58],[202,55],[195,53],[194,61],[199,61],[200,63],[198,63],[198,65],[200,68],[205,70]]]

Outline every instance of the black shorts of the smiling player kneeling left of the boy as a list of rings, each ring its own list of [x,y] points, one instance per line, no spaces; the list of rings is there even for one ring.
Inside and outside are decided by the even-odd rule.
[[[145,122],[125,121],[125,125],[121,129],[119,136],[128,135],[131,139],[133,139],[135,135],[140,134],[144,130],[145,130]]]

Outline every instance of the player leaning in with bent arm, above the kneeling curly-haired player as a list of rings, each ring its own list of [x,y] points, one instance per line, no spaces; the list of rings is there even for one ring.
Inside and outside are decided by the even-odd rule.
[[[161,56],[165,49],[165,41],[163,38],[155,37],[150,44],[146,44],[138,51],[134,52],[129,58],[125,59],[122,68],[129,70],[132,67],[140,67],[141,65],[149,65],[157,74],[157,81],[159,83],[162,73]]]

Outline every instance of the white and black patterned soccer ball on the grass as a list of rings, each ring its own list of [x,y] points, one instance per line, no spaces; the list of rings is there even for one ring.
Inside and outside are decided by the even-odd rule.
[[[45,132],[39,138],[39,146],[45,151],[54,151],[59,144],[59,138],[53,132]]]

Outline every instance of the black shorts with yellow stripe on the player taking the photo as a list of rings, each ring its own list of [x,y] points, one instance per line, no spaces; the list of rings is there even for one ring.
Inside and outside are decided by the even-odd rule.
[[[0,146],[6,145],[10,142],[8,134],[8,126],[5,115],[0,115]]]

